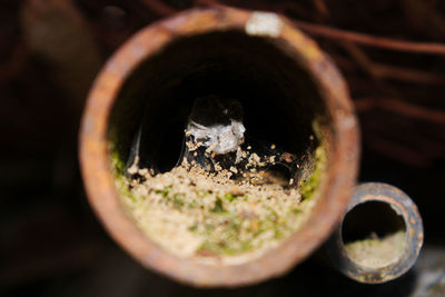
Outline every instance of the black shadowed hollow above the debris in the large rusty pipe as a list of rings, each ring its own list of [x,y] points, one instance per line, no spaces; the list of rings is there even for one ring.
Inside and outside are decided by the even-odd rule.
[[[318,145],[314,121],[329,127],[320,91],[287,44],[236,30],[212,32],[170,42],[125,81],[109,120],[119,158],[126,161],[144,121],[141,166],[170,170],[194,100],[209,95],[243,105],[248,138],[301,159]]]

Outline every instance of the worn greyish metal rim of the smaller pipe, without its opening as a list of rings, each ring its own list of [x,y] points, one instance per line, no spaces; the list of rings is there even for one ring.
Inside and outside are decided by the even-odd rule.
[[[386,283],[400,277],[416,263],[424,241],[423,222],[413,200],[393,186],[382,182],[366,182],[357,186],[347,212],[366,202],[387,204],[395,216],[403,218],[405,225],[405,246],[402,255],[390,264],[382,267],[370,268],[354,261],[345,248],[343,222],[328,240],[327,253],[333,264],[347,277],[366,284]],[[377,219],[379,219],[380,215],[374,214]]]

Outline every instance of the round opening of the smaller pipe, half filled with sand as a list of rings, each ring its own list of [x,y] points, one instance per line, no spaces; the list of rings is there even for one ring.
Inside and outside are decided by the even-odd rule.
[[[402,257],[406,246],[406,226],[389,204],[367,201],[346,215],[342,238],[347,256],[354,263],[382,268]]]

